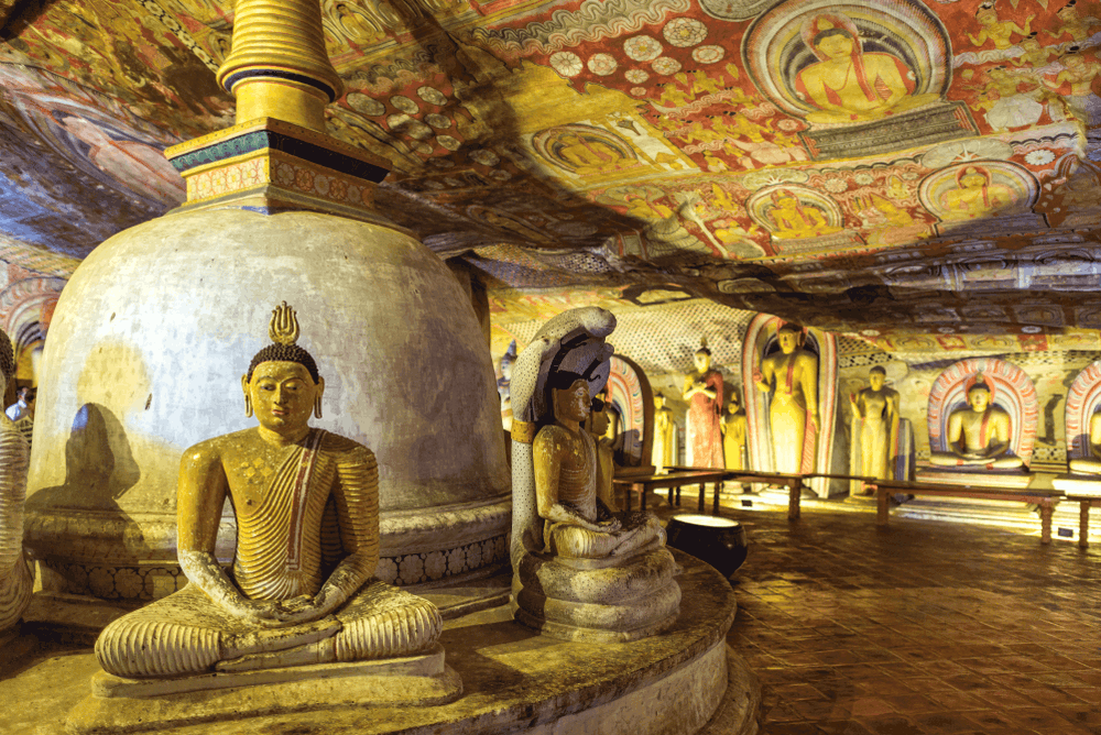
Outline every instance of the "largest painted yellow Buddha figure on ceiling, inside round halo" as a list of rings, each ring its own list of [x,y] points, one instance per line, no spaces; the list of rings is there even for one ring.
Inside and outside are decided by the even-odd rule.
[[[807,114],[808,122],[879,120],[939,99],[914,94],[914,72],[898,57],[865,54],[855,24],[844,15],[814,17],[803,26],[803,40],[819,59],[795,79],[803,101],[818,108]]]

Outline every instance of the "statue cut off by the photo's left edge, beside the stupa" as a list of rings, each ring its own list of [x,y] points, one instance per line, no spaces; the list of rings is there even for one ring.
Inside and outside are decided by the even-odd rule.
[[[0,330],[0,395],[15,377],[11,340]],[[0,416],[0,632],[19,622],[31,602],[33,578],[23,556],[23,503],[31,449],[7,416]]]

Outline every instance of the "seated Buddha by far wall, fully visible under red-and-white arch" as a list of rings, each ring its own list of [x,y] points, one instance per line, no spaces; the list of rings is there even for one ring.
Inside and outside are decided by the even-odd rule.
[[[938,467],[1015,469],[1024,464],[1010,451],[1010,415],[995,406],[991,388],[979,375],[967,391],[966,408],[948,416],[945,436],[948,451],[933,452],[929,463]]]

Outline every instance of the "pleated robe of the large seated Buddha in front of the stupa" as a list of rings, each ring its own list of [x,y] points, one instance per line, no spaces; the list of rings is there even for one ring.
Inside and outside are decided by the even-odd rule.
[[[363,571],[374,570],[379,496],[370,450],[310,429],[270,476],[252,469],[248,487],[233,495],[238,542],[231,577],[247,597],[313,596],[352,551],[370,566]],[[176,677],[219,663],[231,667],[224,651],[235,639],[262,639],[266,651],[325,641],[316,662],[357,661],[418,654],[435,644],[442,628],[432,603],[377,579],[333,615],[270,628],[258,628],[188,584],[115,621],[97,640],[96,656],[119,677]]]

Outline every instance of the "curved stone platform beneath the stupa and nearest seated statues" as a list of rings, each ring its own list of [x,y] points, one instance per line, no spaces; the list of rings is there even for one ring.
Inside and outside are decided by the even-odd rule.
[[[440,644],[464,691],[449,704],[340,706],[156,732],[754,733],[760,685],[744,660],[726,645],[735,611],[734,592],[710,567],[674,553],[685,570],[677,578],[685,603],[673,628],[652,638],[600,645],[556,640],[515,623],[508,605],[498,605],[445,622]],[[20,660],[0,662],[4,732],[64,732],[63,721],[90,694],[90,680],[98,670],[89,648],[48,644]]]

